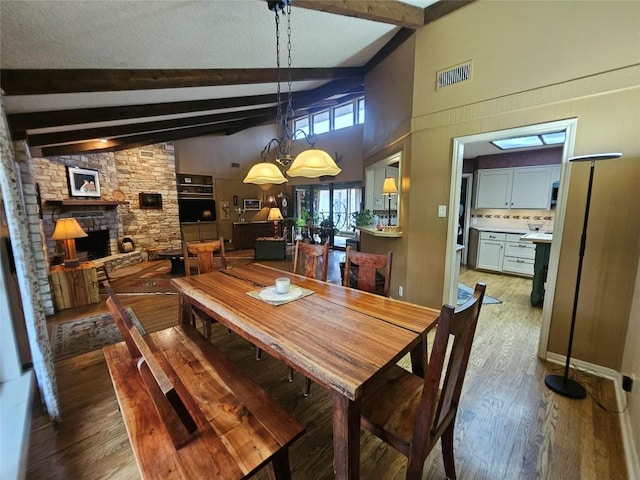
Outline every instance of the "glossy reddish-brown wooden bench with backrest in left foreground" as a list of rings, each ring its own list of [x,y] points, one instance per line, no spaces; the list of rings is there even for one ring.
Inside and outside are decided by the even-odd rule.
[[[141,476],[240,479],[271,463],[289,479],[304,427],[191,326],[143,337],[105,286],[125,341],[103,351]]]

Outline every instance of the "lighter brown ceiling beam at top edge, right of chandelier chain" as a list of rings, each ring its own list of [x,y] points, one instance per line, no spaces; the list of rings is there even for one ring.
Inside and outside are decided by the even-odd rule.
[[[296,7],[334,13],[347,17],[390,23],[416,29],[424,25],[425,10],[407,3],[387,0],[371,2],[361,0],[295,0]]]

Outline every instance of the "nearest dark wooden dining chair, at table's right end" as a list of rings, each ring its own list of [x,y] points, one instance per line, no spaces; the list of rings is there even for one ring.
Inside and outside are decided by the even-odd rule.
[[[361,426],[407,457],[407,479],[422,478],[438,440],[447,478],[456,478],[454,426],[485,289],[477,283],[458,309],[442,307],[424,378],[394,365],[362,400]]]

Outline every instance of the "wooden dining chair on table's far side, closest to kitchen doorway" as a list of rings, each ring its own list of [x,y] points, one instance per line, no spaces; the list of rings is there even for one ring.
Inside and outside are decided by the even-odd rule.
[[[345,287],[355,287],[371,293],[381,293],[389,296],[391,287],[391,258],[393,252],[386,255],[358,252],[347,247],[342,284]],[[383,269],[384,281],[377,281],[378,270]],[[353,278],[352,278],[353,277]]]

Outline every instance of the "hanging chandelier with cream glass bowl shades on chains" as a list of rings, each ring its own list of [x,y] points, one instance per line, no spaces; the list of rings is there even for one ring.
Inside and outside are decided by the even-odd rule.
[[[307,135],[303,130],[294,131],[291,128],[293,124],[293,103],[291,99],[291,0],[267,2],[267,6],[269,10],[275,13],[276,19],[276,64],[278,67],[276,127],[280,129],[280,132],[278,138],[269,140],[262,149],[260,157],[263,161],[251,167],[244,179],[244,183],[258,185],[284,183],[287,179],[283,175],[283,171],[286,171],[290,177],[318,178],[337,175],[342,170],[336,165],[331,155],[323,150],[313,148],[315,136]],[[284,108],[280,92],[280,14],[287,17],[288,91]],[[302,135],[311,148],[301,152],[293,159],[291,147],[296,135]],[[269,162],[269,154],[274,148],[277,148],[276,163],[271,163]]]

